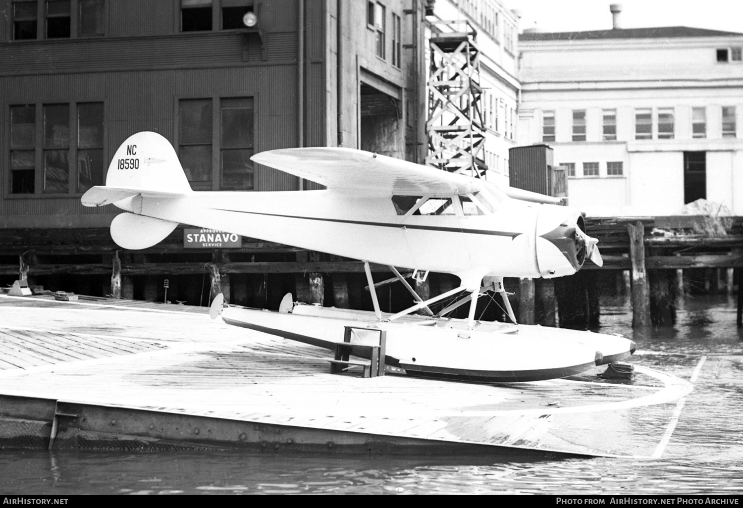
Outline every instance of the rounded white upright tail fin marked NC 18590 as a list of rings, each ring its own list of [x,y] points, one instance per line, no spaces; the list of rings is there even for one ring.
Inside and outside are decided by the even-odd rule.
[[[172,145],[157,132],[129,136],[108,166],[106,187],[155,192],[191,192]]]

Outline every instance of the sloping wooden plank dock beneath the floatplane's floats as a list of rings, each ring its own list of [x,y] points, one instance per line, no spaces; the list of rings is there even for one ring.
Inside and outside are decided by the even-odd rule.
[[[331,352],[206,310],[0,296],[2,446],[652,456],[689,382],[330,374]],[[637,425],[642,420],[652,425]]]

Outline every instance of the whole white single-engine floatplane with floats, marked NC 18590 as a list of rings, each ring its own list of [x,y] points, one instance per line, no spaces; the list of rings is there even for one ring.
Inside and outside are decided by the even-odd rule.
[[[106,186],[85,206],[113,203],[124,213],[111,237],[125,249],[151,247],[179,223],[218,229],[364,261],[374,312],[293,305],[279,312],[212,304],[225,322],[323,348],[386,332],[386,365],[407,374],[486,382],[568,377],[625,359],[635,342],[619,336],[516,325],[503,277],[569,276],[585,260],[601,264],[597,241],[575,209],[559,199],[455,175],[392,157],[344,148],[279,149],[252,157],[326,187],[312,191],[194,192],[168,140],[129,137],[114,154]],[[415,305],[382,313],[369,262],[386,264]],[[452,273],[459,287],[423,300],[400,275]],[[476,319],[478,296],[499,293],[510,323]],[[431,306],[464,297],[434,313]],[[469,304],[467,319],[444,316]],[[426,316],[416,314],[421,311]],[[351,345],[353,348],[353,345]],[[351,354],[365,356],[366,348]]]

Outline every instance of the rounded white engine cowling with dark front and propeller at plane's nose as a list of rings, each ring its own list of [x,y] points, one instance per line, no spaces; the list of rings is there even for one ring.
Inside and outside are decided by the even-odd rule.
[[[542,205],[536,221],[536,264],[545,279],[569,276],[586,258],[602,264],[597,240],[585,234],[583,216],[568,206]]]

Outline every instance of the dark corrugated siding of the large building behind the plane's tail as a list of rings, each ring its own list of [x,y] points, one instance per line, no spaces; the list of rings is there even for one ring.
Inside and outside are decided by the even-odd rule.
[[[137,131],[158,131],[174,140],[178,98],[255,97],[255,151],[297,146],[296,0],[265,4],[270,7],[265,7],[262,21],[276,20],[276,25],[285,30],[265,33],[265,61],[254,37],[248,39],[247,60],[244,60],[246,46],[241,33],[172,33],[178,11],[171,2],[117,0],[108,4],[111,19],[120,16],[122,26],[116,30],[121,33],[166,35],[0,42],[0,169],[3,175],[0,227],[59,227],[83,223],[90,226],[95,225],[95,221],[90,224],[83,216],[111,213],[108,209],[83,207],[79,195],[70,198],[8,196],[10,105],[105,102],[104,158],[108,161],[120,143]],[[163,5],[145,9],[149,13],[144,16],[147,19],[129,11],[144,4]],[[308,6],[308,16],[305,16],[308,39],[313,41],[305,45],[306,53],[311,55],[305,67],[305,133],[307,144],[317,146],[325,144],[325,62],[324,39],[319,36],[323,17],[320,13],[315,15],[314,11]],[[322,9],[317,11],[322,12]],[[280,16],[282,13],[285,16]],[[293,26],[288,27],[290,22]],[[136,30],[134,25],[138,25]],[[268,26],[272,25],[268,23]],[[262,166],[256,168],[257,190],[296,189],[296,185],[296,177]]]

